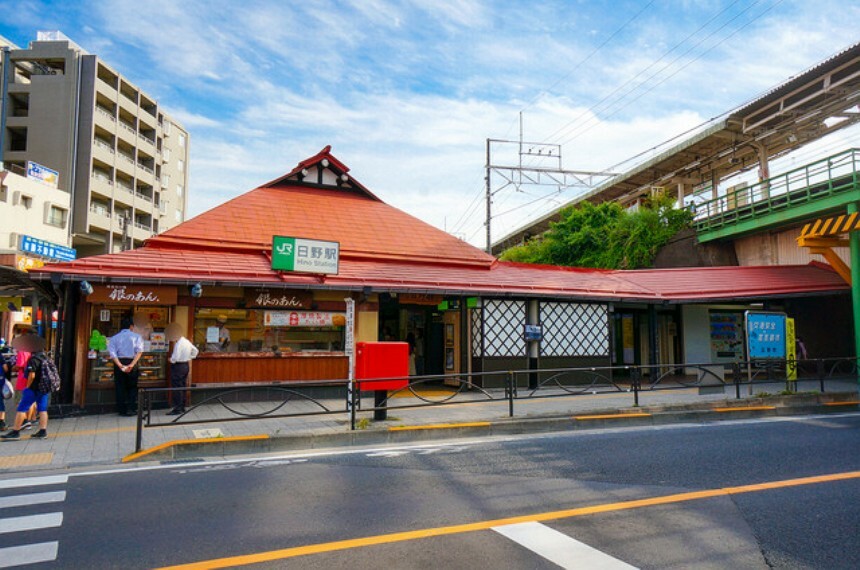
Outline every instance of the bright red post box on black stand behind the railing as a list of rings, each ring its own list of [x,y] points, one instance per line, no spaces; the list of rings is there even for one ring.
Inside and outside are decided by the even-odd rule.
[[[383,382],[362,382],[373,378],[393,378]],[[355,379],[358,389],[399,390],[409,384],[409,344],[405,342],[355,343]]]

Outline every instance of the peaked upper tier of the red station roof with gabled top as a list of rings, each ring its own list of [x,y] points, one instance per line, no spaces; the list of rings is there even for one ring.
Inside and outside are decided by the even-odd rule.
[[[297,169],[327,158],[330,168],[347,170],[327,148],[299,163]],[[385,204],[369,192],[302,185],[285,178],[216,206],[149,239],[146,245],[270,251],[272,236],[284,235],[340,242],[343,259],[483,267],[489,267],[495,260],[466,242]],[[350,182],[357,185],[354,180]]]

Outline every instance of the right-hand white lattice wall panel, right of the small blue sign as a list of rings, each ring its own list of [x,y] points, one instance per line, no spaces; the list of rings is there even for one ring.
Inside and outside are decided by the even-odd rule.
[[[540,304],[544,356],[606,356],[609,354],[609,311],[606,305]]]

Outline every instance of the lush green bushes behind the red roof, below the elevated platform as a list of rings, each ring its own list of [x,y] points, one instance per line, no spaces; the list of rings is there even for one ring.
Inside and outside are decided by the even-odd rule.
[[[691,221],[692,214],[676,209],[666,194],[654,196],[635,212],[615,202],[583,202],[562,209],[559,221],[540,239],[512,247],[500,258],[603,269],[650,267],[657,251]]]

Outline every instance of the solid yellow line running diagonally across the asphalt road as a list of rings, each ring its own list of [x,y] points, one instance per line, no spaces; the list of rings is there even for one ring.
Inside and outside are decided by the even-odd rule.
[[[860,479],[860,471],[849,471],[846,473],[832,473],[828,475],[816,475],[813,477],[801,477],[798,479],[785,479],[782,481],[769,481],[766,483],[754,483],[751,485],[741,485],[738,487],[724,487],[722,489],[706,489],[704,491],[692,491],[688,493],[675,493],[673,495],[663,495],[661,497],[651,497],[648,499],[635,499],[632,501],[621,501],[618,503],[605,503],[602,505],[593,505],[590,507],[579,507],[575,509],[565,509],[561,511],[549,511],[544,513],[534,513],[530,515],[522,515],[517,517],[508,517],[502,519],[478,521],[473,523],[458,524],[451,526],[441,526],[435,528],[425,528],[418,530],[410,530],[405,532],[395,532],[391,534],[380,534],[377,536],[367,536],[363,538],[352,538],[347,540],[338,540],[334,542],[323,542],[319,544],[309,544],[307,546],[295,546],[292,548],[284,548],[281,550],[270,550],[267,552],[258,552],[255,554],[245,554],[240,556],[230,556],[227,558],[216,558],[213,560],[204,560],[201,562],[192,562],[190,564],[179,564],[176,566],[165,566],[161,570],[209,570],[211,568],[230,568],[233,566],[244,566],[247,564],[258,564],[262,562],[272,562],[275,560],[285,560],[287,558],[295,558],[297,556],[307,556],[309,554],[321,554],[324,552],[335,552],[338,550],[349,550],[352,548],[362,548],[365,546],[374,546],[379,544],[392,544],[395,542],[406,542],[410,540],[418,540],[422,538],[430,538],[434,536],[446,536],[452,534],[462,534],[466,532],[475,532],[481,530],[489,530],[493,527],[519,524],[525,522],[544,522],[573,517],[581,517],[598,513],[609,513],[615,511],[625,511],[630,509],[638,509],[642,507],[653,507],[657,505],[668,505],[672,503],[682,503],[686,501],[696,501],[701,499],[710,499],[714,497],[724,497],[727,495],[739,495],[742,493],[754,493],[758,491],[767,491],[771,489],[783,489],[786,487],[799,487],[803,485],[813,485],[817,483],[830,483],[833,481],[845,481],[849,479]]]

